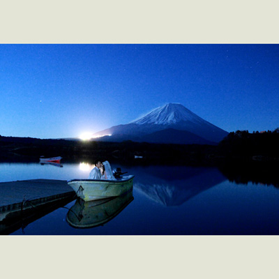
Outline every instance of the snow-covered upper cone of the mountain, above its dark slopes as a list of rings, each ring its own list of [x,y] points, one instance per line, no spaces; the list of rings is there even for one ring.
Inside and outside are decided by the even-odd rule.
[[[183,105],[169,103],[163,107],[157,107],[152,112],[149,112],[149,114],[146,114],[142,118],[136,119],[131,123],[168,125],[179,123],[180,121],[199,122],[201,120],[202,119],[199,116],[186,109]]]

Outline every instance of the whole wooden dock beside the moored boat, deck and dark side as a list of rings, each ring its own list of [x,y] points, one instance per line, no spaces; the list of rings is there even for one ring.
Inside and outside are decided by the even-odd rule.
[[[0,234],[10,234],[75,199],[67,181],[33,179],[0,183]],[[22,225],[24,224],[24,225]]]

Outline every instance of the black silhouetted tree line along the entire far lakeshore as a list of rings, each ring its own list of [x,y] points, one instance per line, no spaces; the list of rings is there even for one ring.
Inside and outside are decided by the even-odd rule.
[[[13,155],[14,154],[14,155]],[[147,142],[83,142],[80,140],[40,140],[31,137],[3,137],[0,135],[1,157],[17,155],[33,157],[62,156],[74,158],[104,158],[107,160],[135,160],[159,163],[216,164],[224,160],[277,161],[279,163],[279,128],[273,131],[248,133],[236,130],[229,133],[218,146],[205,144],[151,144]],[[143,160],[144,161],[144,160]]]

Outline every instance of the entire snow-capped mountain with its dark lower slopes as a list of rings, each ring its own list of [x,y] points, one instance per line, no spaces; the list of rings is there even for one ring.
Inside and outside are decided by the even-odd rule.
[[[93,137],[106,142],[133,140],[170,144],[216,144],[227,134],[225,130],[202,119],[183,105],[169,103],[128,124],[95,133]]]

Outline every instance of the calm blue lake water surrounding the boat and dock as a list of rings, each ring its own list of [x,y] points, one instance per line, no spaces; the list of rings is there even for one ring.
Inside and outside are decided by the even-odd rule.
[[[0,163],[0,182],[86,179],[93,167],[61,163]],[[74,199],[10,234],[279,234],[279,190],[272,184],[229,181],[216,167],[111,165],[135,175],[132,193],[93,205]]]

